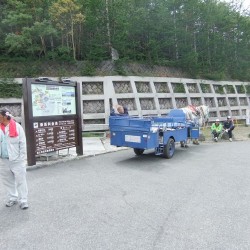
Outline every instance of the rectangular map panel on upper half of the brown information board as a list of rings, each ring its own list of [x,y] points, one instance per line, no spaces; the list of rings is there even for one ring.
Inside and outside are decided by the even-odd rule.
[[[75,87],[31,84],[33,116],[75,115]]]

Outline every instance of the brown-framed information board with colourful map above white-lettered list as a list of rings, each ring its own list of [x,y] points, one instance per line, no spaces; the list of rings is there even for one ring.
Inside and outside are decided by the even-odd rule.
[[[67,148],[83,155],[80,95],[77,82],[23,79],[28,166],[36,156]]]

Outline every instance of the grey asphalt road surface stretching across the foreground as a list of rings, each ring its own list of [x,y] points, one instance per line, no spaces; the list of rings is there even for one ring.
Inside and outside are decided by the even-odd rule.
[[[0,249],[250,249],[250,140],[177,145],[168,160],[95,140],[28,168],[30,208],[0,205]]]

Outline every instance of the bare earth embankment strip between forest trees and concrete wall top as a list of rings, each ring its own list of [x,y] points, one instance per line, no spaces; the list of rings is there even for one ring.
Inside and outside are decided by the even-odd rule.
[[[71,76],[149,76],[177,77],[191,76],[175,67],[164,67],[149,64],[129,62],[55,62],[55,61],[25,61],[0,62],[0,75],[11,78],[22,77],[71,77]]]

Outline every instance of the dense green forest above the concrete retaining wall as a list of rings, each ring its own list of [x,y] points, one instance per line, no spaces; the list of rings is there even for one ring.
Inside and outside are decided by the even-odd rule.
[[[152,74],[139,64],[163,69],[155,76],[172,68],[250,81],[250,11],[241,1],[1,0],[0,10],[1,78]]]

